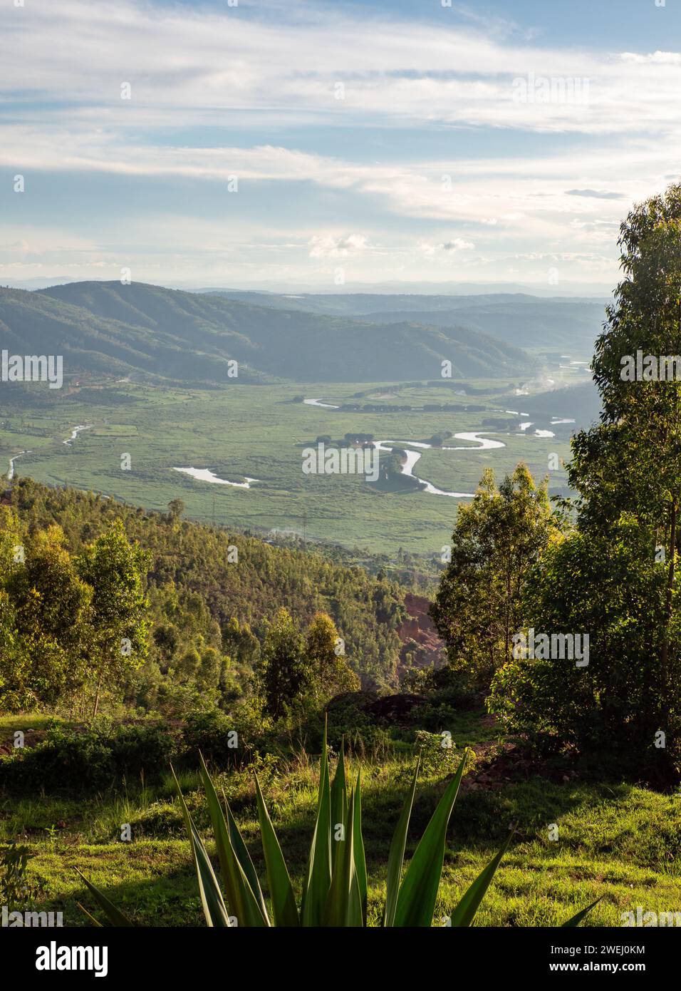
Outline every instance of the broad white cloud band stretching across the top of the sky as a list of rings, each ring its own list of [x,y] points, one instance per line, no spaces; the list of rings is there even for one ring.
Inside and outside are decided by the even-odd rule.
[[[677,53],[519,44],[463,28],[445,11],[439,23],[420,23],[314,7],[202,11],[31,0],[30,11],[3,5],[0,26],[8,42],[4,88],[17,116],[23,103],[58,94],[44,122],[146,131],[225,126],[247,111],[274,126],[277,118],[411,119],[594,135],[633,133],[641,121],[655,130],[678,127]],[[589,79],[588,105],[515,102],[513,80],[530,73]],[[131,83],[131,100],[120,98],[122,82]]]

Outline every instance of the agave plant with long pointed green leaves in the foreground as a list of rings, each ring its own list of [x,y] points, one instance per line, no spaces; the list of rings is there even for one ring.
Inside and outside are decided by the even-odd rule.
[[[407,870],[404,871],[407,832],[414,805],[420,762],[421,758],[419,757],[409,795],[390,845],[386,897],[381,918],[381,925],[385,927],[430,927],[433,925],[433,915],[444,861],[446,829],[461,783],[466,753],[464,752],[455,775],[447,784],[414,856],[409,862]],[[300,909],[296,903],[286,861],[267,812],[257,775],[254,775],[255,797],[271,915],[265,904],[260,883],[243,842],[239,826],[235,822],[224,795],[225,812],[223,812],[203,756],[201,756],[201,778],[215,835],[222,887],[213,869],[206,846],[187,809],[176,778],[175,784],[191,843],[201,904],[208,926],[224,928],[234,926],[366,926],[367,875],[361,833],[360,773],[357,774],[354,787],[348,792],[341,751],[334,782],[333,784],[330,783],[326,727],[322,746],[317,820],[308,857]],[[447,925],[456,927],[471,925],[478,906],[509,845],[511,835],[460,899],[453,909]],[[80,874],[80,871],[78,873]],[[112,925],[133,925],[87,878],[82,874],[80,876]],[[92,922],[100,925],[82,906],[80,908]],[[565,925],[579,925],[592,908],[593,906],[589,906],[584,909]]]

